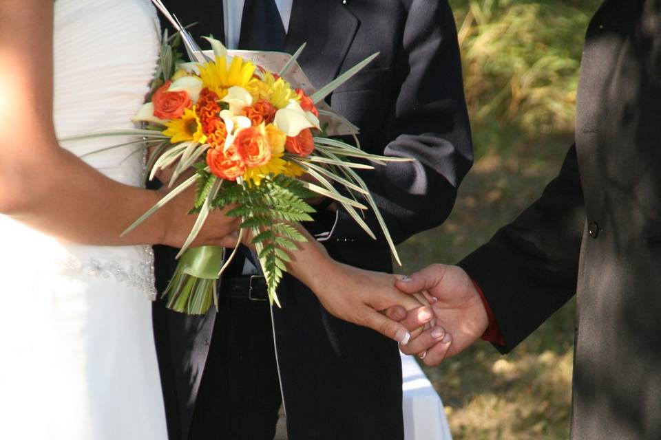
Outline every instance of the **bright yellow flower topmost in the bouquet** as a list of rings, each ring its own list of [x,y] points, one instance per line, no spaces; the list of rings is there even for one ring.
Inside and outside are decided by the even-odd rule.
[[[244,61],[235,56],[227,66],[227,58],[216,57],[216,61],[210,61],[200,65],[200,78],[202,85],[223,98],[227,89],[232,86],[246,87],[253,78],[255,65],[250,61]]]

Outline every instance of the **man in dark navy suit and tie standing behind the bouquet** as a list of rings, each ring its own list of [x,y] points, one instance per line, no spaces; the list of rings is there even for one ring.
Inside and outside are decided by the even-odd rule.
[[[328,102],[359,126],[366,151],[417,159],[363,175],[397,243],[448,216],[472,148],[446,0],[246,0],[240,32],[224,17],[240,2],[165,3],[182,23],[198,22],[193,34],[222,39],[225,30],[226,43],[238,36],[240,48],[293,53],[307,43],[299,62],[317,87],[380,52]],[[266,10],[270,17],[256,14]],[[306,227],[331,256],[392,269],[384,239],[370,239],[341,209],[318,210]],[[367,221],[379,230],[374,217]],[[161,289],[174,269],[168,252],[157,250]],[[251,301],[250,270],[242,265],[223,278],[218,315],[181,316],[161,303],[154,308],[171,439],[272,438],[278,379],[292,440],[402,439],[397,344],[334,318],[290,276],[278,291],[282,309]]]

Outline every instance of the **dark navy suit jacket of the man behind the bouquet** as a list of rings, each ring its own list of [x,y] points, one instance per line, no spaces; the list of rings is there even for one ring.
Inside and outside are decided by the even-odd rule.
[[[199,21],[193,33],[222,34],[220,1],[165,3],[183,23]],[[457,34],[447,1],[295,0],[286,51],[293,53],[304,42],[299,61],[317,87],[380,52],[330,96],[330,104],[360,127],[367,151],[417,159],[363,173],[395,241],[439,225],[472,163]],[[373,216],[368,221],[379,230]],[[385,241],[370,239],[345,212],[337,222],[334,214],[322,212],[309,226],[323,229],[320,225],[334,225],[324,243],[336,259],[391,270]],[[159,251],[159,287],[173,268]],[[282,309],[275,309],[273,318],[290,439],[401,439],[397,344],[330,316],[291,277],[284,278],[278,296]],[[160,305],[154,314],[169,419],[185,437],[215,314],[176,316]]]

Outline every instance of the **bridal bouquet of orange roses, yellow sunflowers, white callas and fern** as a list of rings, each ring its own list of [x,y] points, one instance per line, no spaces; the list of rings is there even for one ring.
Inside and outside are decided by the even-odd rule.
[[[154,3],[158,6],[160,2]],[[213,53],[202,52],[176,18],[160,9],[179,33],[169,37],[164,32],[151,92],[134,117],[143,129],[131,133],[140,135],[140,142],[153,150],[147,164],[150,178],[159,170],[174,168],[169,181],[173,188],[125,233],[182,191],[196,186],[191,214],[198,217],[165,292],[167,307],[204,314],[212,304],[218,305],[216,280],[237,248],[225,258],[222,248],[190,245],[209,213],[229,205],[235,208],[227,215],[242,221],[240,239],[246,231],[251,234],[271,303],[279,305],[276,288],[290,261],[288,251],[296,249],[296,242],[306,240],[291,223],[312,220],[310,214],[315,210],[306,202],[309,197],[337,201],[375,238],[359,213],[370,207],[399,262],[379,209],[355,170],[373,168],[365,159],[380,163],[408,159],[361,151],[355,127],[330,109],[317,108],[377,54],[308,96],[285,79],[303,47],[280,72],[269,72],[240,56],[231,56],[215,39],[207,39]],[[191,62],[183,63],[174,49],[178,39],[184,42]],[[321,122],[324,119],[342,122],[356,145],[329,137],[324,131],[327,124]],[[364,160],[352,162],[352,158]],[[195,174],[178,183],[191,168]],[[303,175],[311,179],[301,179]]]

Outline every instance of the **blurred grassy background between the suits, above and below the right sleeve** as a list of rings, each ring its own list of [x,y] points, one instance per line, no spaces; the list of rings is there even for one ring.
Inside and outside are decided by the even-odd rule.
[[[573,142],[585,30],[600,3],[450,0],[475,163],[450,218],[399,246],[402,273],[459,261],[558,173]],[[568,437],[575,308],[570,301],[510,355],[479,342],[425,369],[454,439]]]

